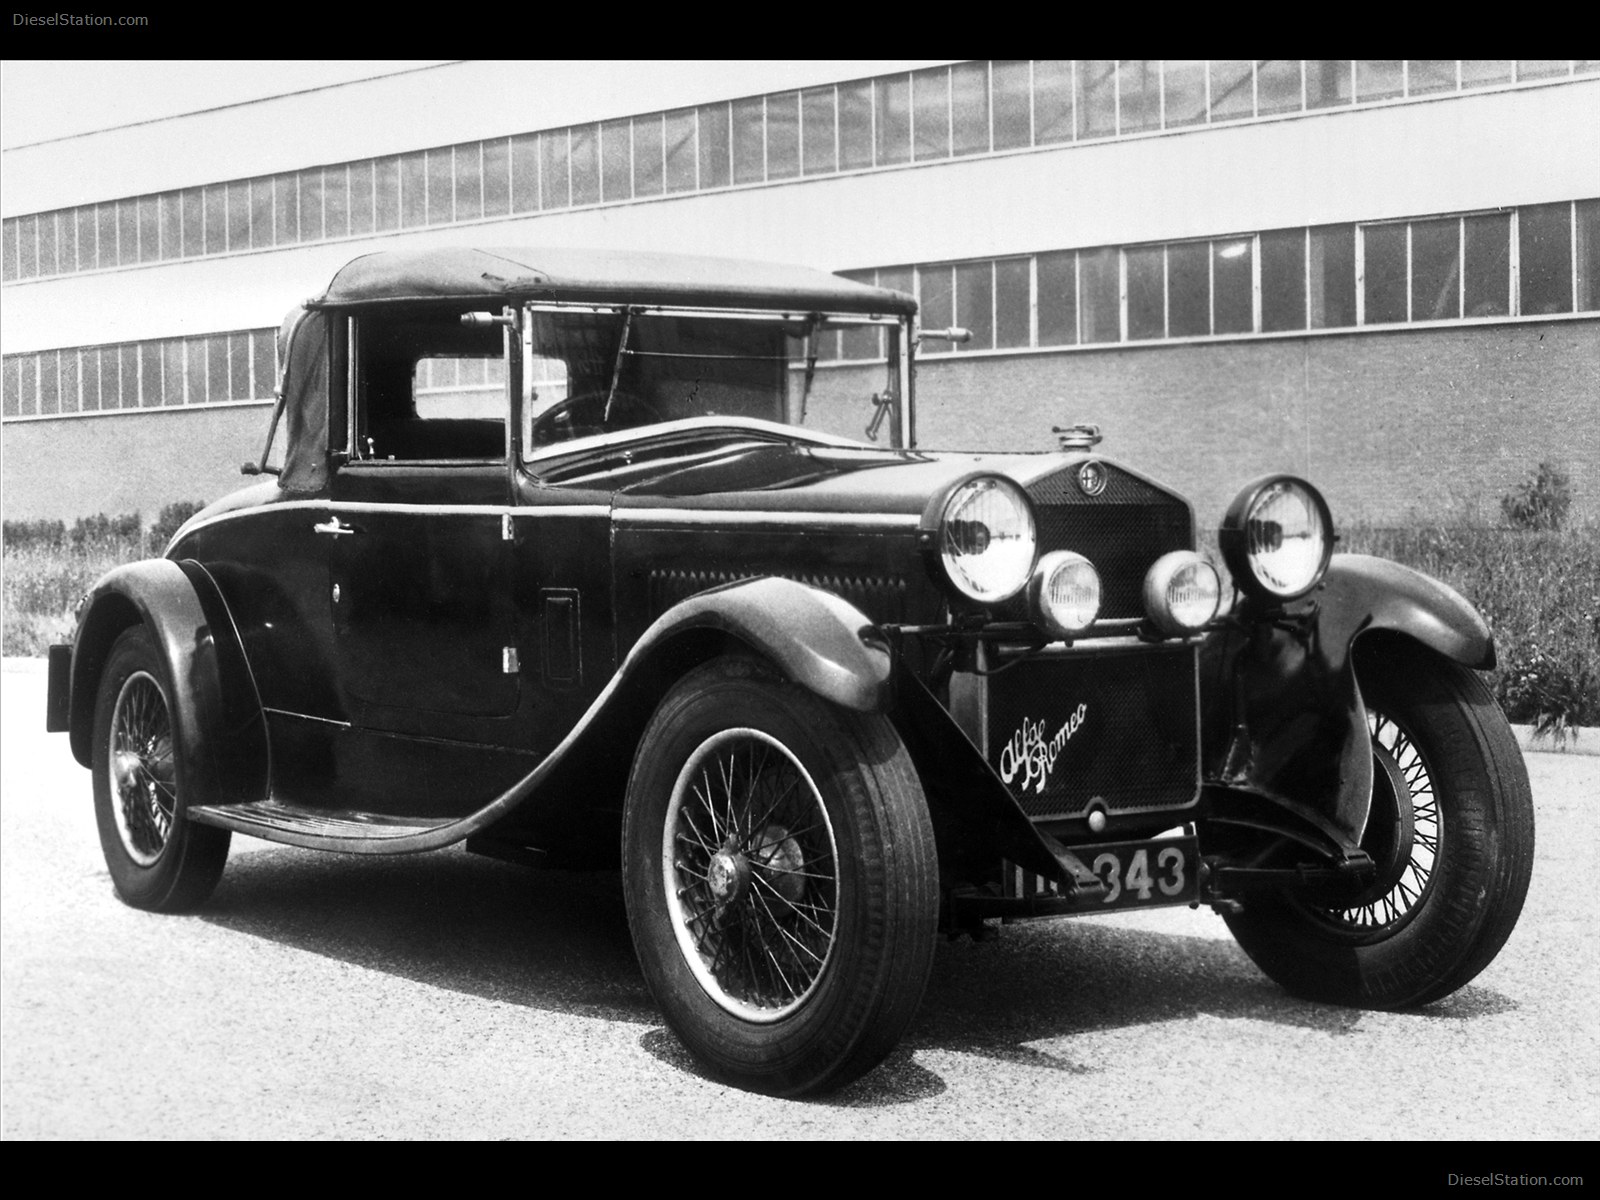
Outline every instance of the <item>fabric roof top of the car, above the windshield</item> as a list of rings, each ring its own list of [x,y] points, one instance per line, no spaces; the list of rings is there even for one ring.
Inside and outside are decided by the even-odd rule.
[[[810,267],[616,250],[386,250],[346,264],[307,307],[389,301],[566,299],[904,314],[901,291]]]

